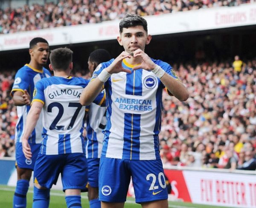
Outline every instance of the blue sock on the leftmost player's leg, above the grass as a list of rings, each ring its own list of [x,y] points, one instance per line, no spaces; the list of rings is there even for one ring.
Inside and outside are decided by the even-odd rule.
[[[26,208],[26,193],[29,190],[29,181],[21,179],[17,181],[14,197],[13,208]]]

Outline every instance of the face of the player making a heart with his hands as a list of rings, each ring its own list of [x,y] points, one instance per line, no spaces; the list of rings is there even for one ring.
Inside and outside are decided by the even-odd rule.
[[[129,54],[137,49],[144,51],[145,45],[148,45],[151,40],[151,35],[143,29],[143,26],[135,26],[123,28],[122,34],[117,38],[119,44],[124,47],[125,51]]]

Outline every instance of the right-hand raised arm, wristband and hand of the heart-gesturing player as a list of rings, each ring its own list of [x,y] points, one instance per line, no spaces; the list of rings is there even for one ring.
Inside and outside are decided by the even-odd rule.
[[[141,49],[134,52],[134,57],[140,56],[142,58],[141,65],[134,66],[133,70],[145,69],[153,72],[160,78],[161,82],[166,86],[167,90],[172,93],[180,101],[186,101],[189,98],[189,92],[185,86],[171,75],[167,74],[160,66],[155,64],[149,56]]]

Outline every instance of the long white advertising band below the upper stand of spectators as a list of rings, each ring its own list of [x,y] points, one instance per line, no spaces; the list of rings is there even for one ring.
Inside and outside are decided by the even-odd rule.
[[[151,15],[145,19],[151,35],[256,25],[256,3]],[[119,35],[119,21],[0,34],[0,51],[27,49],[35,37],[47,39],[50,46],[114,40]]]

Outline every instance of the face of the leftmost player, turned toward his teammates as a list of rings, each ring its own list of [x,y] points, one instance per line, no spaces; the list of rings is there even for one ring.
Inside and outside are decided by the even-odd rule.
[[[47,43],[37,43],[32,49],[29,49],[31,59],[39,65],[47,64],[49,58],[49,45]]]

